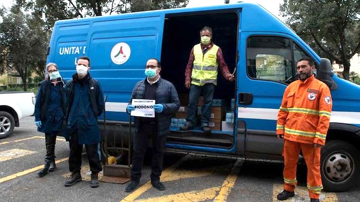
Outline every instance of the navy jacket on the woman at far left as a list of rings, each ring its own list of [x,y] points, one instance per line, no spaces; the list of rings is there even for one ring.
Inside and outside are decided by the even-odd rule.
[[[41,120],[38,131],[42,133],[58,132],[61,129],[65,114],[64,83],[56,86],[50,79],[39,83],[38,95],[35,103],[35,121]]]

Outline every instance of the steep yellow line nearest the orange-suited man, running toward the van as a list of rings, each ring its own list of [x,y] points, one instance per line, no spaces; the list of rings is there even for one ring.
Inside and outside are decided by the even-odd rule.
[[[236,161],[230,174],[227,175],[226,179],[222,183],[219,194],[215,197],[214,202],[226,201],[227,196],[230,194],[231,189],[235,185],[236,179],[238,178],[238,174],[243,163],[244,160]]]

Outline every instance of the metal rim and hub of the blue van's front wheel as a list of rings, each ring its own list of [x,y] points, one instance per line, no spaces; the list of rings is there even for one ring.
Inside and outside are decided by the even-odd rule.
[[[353,159],[347,153],[333,153],[324,162],[324,174],[334,182],[346,180],[353,172]]]

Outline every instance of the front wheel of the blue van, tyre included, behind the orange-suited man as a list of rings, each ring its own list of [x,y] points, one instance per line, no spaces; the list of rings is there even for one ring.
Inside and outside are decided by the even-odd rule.
[[[342,140],[326,142],[321,149],[320,172],[324,190],[349,190],[360,180],[360,151]]]

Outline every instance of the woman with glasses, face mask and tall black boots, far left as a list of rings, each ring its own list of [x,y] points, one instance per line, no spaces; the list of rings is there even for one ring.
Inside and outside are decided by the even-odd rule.
[[[46,156],[44,168],[38,172],[39,177],[56,169],[55,143],[65,114],[64,81],[55,63],[46,65],[48,77],[39,83],[35,103],[35,124],[38,131],[45,133]]]

